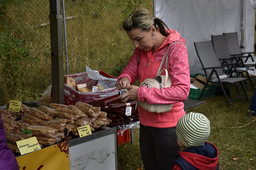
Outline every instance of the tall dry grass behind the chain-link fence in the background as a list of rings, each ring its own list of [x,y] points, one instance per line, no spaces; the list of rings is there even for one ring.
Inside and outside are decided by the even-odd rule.
[[[49,0],[5,1],[4,12],[0,4],[0,105],[33,101],[52,82],[50,25],[38,26],[49,23]],[[122,22],[138,7],[153,12],[152,5],[152,0],[66,1],[66,17],[75,16],[66,20],[69,74],[89,66],[117,76],[134,50]],[[63,60],[66,74],[64,45]]]

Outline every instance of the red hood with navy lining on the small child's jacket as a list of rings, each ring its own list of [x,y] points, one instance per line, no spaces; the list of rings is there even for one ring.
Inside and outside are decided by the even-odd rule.
[[[205,142],[204,146],[178,151],[178,154],[197,169],[216,169],[219,162],[219,150],[209,142]]]

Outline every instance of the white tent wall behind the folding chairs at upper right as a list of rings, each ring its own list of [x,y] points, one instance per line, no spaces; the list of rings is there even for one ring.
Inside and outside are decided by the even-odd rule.
[[[243,30],[240,45],[245,52],[254,51],[252,5],[253,0],[155,0],[154,15],[187,40],[190,74],[194,74],[203,73],[194,42],[209,41],[211,35],[237,32],[240,41]]]

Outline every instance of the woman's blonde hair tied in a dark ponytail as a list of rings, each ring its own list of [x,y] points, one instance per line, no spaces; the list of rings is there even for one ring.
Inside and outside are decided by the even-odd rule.
[[[154,25],[159,28],[162,35],[168,36],[165,28],[168,26],[157,17],[153,17],[145,8],[138,8],[134,10],[128,18],[124,20],[123,28],[125,31],[131,31],[133,28],[140,28],[142,31],[150,31],[150,27]]]

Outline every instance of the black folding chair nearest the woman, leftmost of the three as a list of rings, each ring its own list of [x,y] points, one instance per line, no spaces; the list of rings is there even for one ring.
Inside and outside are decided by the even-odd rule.
[[[213,49],[213,45],[212,45],[212,41],[204,41],[204,42],[194,42],[194,45],[195,45],[195,48],[196,48],[196,53],[197,53],[197,56],[203,66],[203,70],[204,70],[204,73],[205,73],[205,76],[206,76],[206,83],[204,85],[204,88],[203,90],[201,91],[201,94],[200,96],[198,97],[198,100],[201,99],[201,97],[203,96],[203,93],[206,89],[206,86],[208,84],[208,82],[210,82],[211,78],[212,78],[212,75],[213,73],[216,74],[217,76],[217,79],[218,81],[216,81],[217,83],[220,84],[220,89],[222,90],[226,100],[227,100],[227,103],[228,103],[228,106],[230,107],[230,101],[232,100],[235,100],[235,99],[239,99],[239,98],[242,98],[242,97],[246,97],[246,99],[249,101],[249,98],[246,94],[246,91],[244,89],[244,86],[242,84],[242,81],[246,80],[246,78],[244,77],[237,77],[237,78],[227,78],[227,79],[224,79],[224,80],[220,80],[220,75],[223,75],[223,70],[222,70],[222,66],[220,65],[220,62],[214,52],[214,49]],[[232,66],[233,64],[226,64],[226,65],[229,65],[229,66]],[[212,82],[212,81],[211,81]],[[228,96],[224,90],[224,87],[223,87],[223,83],[231,83],[233,84],[234,86],[236,86],[236,82],[239,82],[243,91],[244,91],[244,95],[243,96],[239,96],[239,97],[236,97],[236,98],[233,98],[233,99],[228,99]],[[214,92],[212,92],[214,93]],[[237,93],[239,94],[239,91],[237,91]]]

